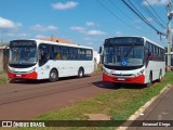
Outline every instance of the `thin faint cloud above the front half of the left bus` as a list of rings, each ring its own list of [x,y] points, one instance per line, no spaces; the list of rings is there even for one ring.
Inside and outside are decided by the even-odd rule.
[[[32,30],[36,31],[53,31],[53,30],[57,30],[57,27],[55,26],[42,26],[42,25],[35,25],[30,27]]]

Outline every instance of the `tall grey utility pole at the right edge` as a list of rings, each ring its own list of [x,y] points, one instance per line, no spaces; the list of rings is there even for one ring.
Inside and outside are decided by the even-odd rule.
[[[171,36],[171,0],[169,0],[168,4],[168,18],[169,18],[169,25],[168,25],[168,70],[171,70],[171,48],[172,48],[172,36]]]

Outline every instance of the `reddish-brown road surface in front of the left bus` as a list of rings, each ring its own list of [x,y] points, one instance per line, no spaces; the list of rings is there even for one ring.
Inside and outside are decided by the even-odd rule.
[[[27,120],[114,89],[102,74],[63,78],[57,82],[21,81],[0,84],[0,120]]]

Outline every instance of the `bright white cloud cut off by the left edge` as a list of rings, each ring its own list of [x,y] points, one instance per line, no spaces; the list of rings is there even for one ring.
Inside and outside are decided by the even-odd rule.
[[[11,20],[0,17],[0,29],[16,29],[22,26],[21,23],[14,23]]]

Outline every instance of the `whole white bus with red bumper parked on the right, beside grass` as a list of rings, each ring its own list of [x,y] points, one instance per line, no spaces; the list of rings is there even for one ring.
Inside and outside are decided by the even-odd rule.
[[[104,43],[103,80],[150,86],[165,74],[164,48],[145,37],[115,37]]]

